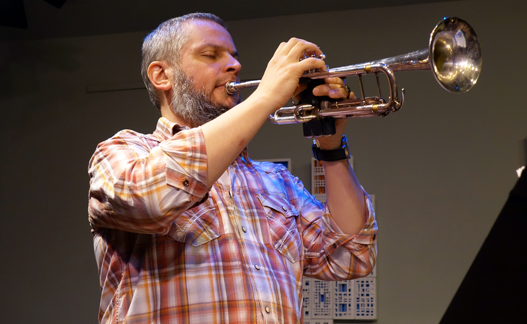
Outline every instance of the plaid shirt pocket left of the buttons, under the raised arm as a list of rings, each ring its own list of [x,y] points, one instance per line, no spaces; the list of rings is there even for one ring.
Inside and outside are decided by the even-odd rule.
[[[172,223],[167,237],[171,240],[199,246],[217,239],[219,220],[209,198],[206,202],[188,209]]]

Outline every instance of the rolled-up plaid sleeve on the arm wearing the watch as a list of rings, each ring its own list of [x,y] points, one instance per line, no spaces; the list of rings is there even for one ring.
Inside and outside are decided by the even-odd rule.
[[[364,189],[363,189],[364,190]],[[370,196],[366,224],[357,235],[344,234],[327,204],[316,201],[307,190],[299,196],[304,274],[321,280],[348,280],[368,275],[377,258],[377,223]]]

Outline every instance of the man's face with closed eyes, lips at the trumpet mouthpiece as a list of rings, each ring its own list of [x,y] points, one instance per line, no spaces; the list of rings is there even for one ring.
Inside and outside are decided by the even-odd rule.
[[[210,94],[213,104],[233,107],[237,96],[225,90],[228,81],[239,81],[241,64],[230,34],[217,23],[207,20],[189,20],[187,42],[181,49],[179,68],[193,81],[196,90]]]

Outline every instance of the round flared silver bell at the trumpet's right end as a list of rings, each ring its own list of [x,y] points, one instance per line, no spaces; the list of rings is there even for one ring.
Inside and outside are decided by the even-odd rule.
[[[446,91],[469,91],[481,73],[481,45],[472,27],[457,17],[439,22],[430,35],[434,77]]]

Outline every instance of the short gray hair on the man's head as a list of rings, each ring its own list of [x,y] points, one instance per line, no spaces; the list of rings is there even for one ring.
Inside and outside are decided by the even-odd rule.
[[[141,63],[141,75],[147,86],[150,101],[158,110],[161,110],[158,92],[148,79],[148,66],[154,61],[167,61],[174,66],[180,60],[181,47],[187,42],[187,34],[182,28],[182,23],[187,20],[209,20],[227,28],[220,17],[207,13],[193,13],[181,17],[175,17],[161,23],[147,37],[144,37]]]

